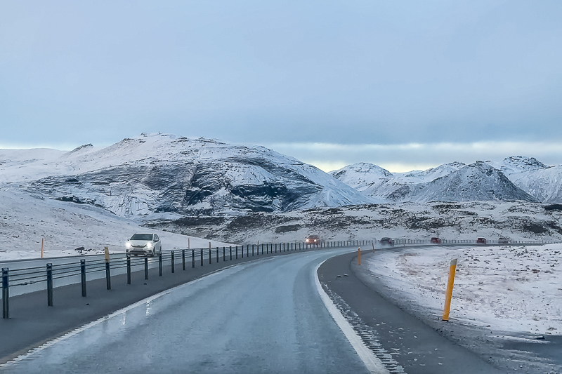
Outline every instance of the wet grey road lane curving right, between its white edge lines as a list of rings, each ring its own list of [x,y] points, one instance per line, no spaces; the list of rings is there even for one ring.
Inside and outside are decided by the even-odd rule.
[[[348,251],[223,269],[89,323],[0,371],[368,373],[315,285],[315,268]]]

